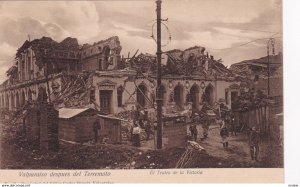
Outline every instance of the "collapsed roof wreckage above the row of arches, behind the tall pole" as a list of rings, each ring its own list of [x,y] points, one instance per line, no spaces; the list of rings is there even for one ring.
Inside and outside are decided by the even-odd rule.
[[[205,48],[195,46],[184,51],[174,49],[162,55],[163,76],[197,76],[202,78],[235,79],[231,70],[215,60],[213,56],[204,54]],[[156,74],[156,56],[139,54],[129,59],[123,59],[126,68],[132,68],[142,73]]]

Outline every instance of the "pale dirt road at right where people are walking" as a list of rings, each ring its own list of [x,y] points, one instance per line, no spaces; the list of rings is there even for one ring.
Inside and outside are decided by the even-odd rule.
[[[197,129],[199,132],[198,142],[209,155],[238,162],[255,162],[251,160],[248,137],[245,133],[237,133],[237,136],[230,133],[229,146],[224,149],[219,126],[210,126],[208,138],[203,141],[200,140],[203,133],[201,126],[197,126]],[[261,167],[283,167],[283,147],[269,141],[262,141],[257,164]]]

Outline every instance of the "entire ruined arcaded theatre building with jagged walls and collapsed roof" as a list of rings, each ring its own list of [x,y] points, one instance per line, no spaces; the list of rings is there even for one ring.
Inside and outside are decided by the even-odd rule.
[[[17,50],[15,64],[0,86],[0,106],[18,110],[38,99],[42,90],[59,107],[90,107],[118,114],[132,107],[155,107],[156,56],[121,58],[118,37],[79,45],[77,39],[58,43],[42,37]],[[213,106],[239,95],[240,77],[214,59],[204,47],[175,49],[163,54],[163,106],[183,110],[192,103]]]

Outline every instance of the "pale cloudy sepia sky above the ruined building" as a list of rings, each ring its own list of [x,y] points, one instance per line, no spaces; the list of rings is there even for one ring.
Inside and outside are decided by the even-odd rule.
[[[162,18],[163,51],[202,46],[226,66],[266,56],[270,37],[282,51],[281,0],[163,0]],[[28,35],[80,44],[119,36],[122,55],[155,54],[155,19],[154,0],[0,1],[0,82]]]

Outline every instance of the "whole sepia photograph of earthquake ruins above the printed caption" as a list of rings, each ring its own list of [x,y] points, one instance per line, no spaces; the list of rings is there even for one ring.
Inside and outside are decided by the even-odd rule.
[[[284,168],[281,0],[1,1],[0,169]]]

